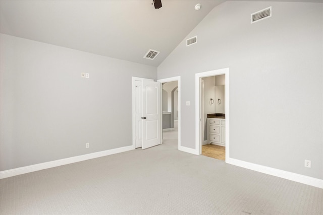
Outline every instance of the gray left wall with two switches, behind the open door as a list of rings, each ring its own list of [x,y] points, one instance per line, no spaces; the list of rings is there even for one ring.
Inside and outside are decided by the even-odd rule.
[[[132,145],[132,76],[155,67],[0,38],[1,171]]]

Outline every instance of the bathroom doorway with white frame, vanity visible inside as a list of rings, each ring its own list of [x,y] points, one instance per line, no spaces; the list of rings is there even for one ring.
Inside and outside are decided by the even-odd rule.
[[[195,74],[195,98],[196,154],[229,159],[229,68]]]

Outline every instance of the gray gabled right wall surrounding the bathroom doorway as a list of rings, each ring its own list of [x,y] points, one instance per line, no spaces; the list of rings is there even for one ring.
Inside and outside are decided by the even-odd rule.
[[[250,24],[269,6],[271,18]],[[182,146],[195,148],[195,73],[229,67],[230,157],[323,179],[322,14],[320,3],[214,8],[187,35],[197,44],[184,38],[158,66],[158,79],[181,76]]]

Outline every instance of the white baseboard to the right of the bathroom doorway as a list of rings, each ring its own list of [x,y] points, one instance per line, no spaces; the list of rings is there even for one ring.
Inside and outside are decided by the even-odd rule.
[[[284,170],[279,170],[279,169],[266,167],[258,164],[253,164],[253,163],[249,163],[246,161],[241,161],[233,158],[226,159],[226,163],[323,189],[322,179],[312,178],[309,176],[287,172]]]

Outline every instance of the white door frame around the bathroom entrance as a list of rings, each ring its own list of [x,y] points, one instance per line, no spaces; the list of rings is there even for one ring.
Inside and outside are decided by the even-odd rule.
[[[200,122],[200,79],[210,76],[225,75],[226,86],[225,86],[225,110],[226,110],[226,163],[230,158],[230,147],[229,147],[229,130],[230,130],[230,115],[229,115],[229,68],[222,68],[217,70],[205,71],[204,73],[195,74],[195,153],[200,155],[201,152],[201,122]]]

